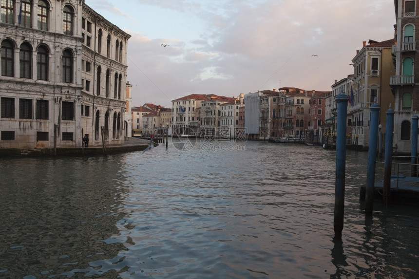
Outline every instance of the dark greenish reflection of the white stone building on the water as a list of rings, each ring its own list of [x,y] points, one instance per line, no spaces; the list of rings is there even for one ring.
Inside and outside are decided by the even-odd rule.
[[[117,158],[8,160],[1,173],[5,277],[68,275],[125,248],[103,242],[123,218],[118,208],[126,187]]]

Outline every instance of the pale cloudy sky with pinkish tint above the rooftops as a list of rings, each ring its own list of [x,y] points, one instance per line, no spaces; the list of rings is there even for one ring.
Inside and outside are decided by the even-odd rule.
[[[353,73],[362,41],[393,38],[396,23],[393,0],[85,2],[132,36],[133,106],[171,107],[191,93],[329,91]]]

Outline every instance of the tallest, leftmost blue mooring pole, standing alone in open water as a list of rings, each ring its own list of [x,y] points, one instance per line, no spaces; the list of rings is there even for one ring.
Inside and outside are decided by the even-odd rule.
[[[333,227],[335,239],[342,238],[343,212],[345,205],[345,167],[346,167],[346,108],[348,96],[339,94],[336,96],[338,107],[336,127],[336,180],[335,180],[335,215]]]

